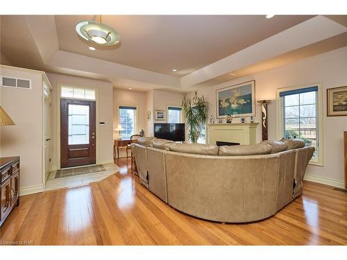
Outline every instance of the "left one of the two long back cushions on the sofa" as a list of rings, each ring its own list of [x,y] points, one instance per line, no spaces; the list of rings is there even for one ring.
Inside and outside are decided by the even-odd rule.
[[[196,155],[218,155],[218,146],[215,144],[173,144],[169,146],[169,150]]]

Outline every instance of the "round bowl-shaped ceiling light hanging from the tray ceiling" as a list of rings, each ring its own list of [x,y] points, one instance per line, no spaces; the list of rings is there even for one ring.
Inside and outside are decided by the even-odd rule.
[[[99,15],[99,21],[81,21],[78,23],[76,32],[84,40],[95,44],[110,46],[120,42],[119,33],[110,26],[101,23],[101,15]]]

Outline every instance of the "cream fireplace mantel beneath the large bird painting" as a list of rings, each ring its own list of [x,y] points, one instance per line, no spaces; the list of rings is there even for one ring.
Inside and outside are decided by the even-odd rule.
[[[255,144],[258,124],[259,123],[208,124],[208,144],[216,144],[216,141]]]

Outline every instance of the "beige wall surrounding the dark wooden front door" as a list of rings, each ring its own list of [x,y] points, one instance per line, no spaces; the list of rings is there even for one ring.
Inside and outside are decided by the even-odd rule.
[[[79,87],[90,87],[98,89],[99,92],[99,119],[96,119],[96,128],[99,128],[99,137],[96,137],[97,148],[99,153],[99,160],[97,163],[105,164],[112,162],[112,123],[113,123],[113,110],[112,110],[112,83],[102,80],[92,80],[89,78],[79,78],[75,76],[67,76],[56,73],[47,73],[49,81],[53,87],[52,92],[52,168],[58,166],[58,84],[74,85]],[[99,127],[99,122],[105,122],[103,128]]]

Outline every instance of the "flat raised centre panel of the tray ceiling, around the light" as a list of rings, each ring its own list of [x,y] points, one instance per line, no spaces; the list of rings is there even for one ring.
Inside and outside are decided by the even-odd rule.
[[[105,15],[121,35],[113,49],[90,51],[76,34],[92,15],[56,15],[59,49],[171,76],[184,76],[312,18],[309,15]],[[177,72],[172,69],[177,68]]]

